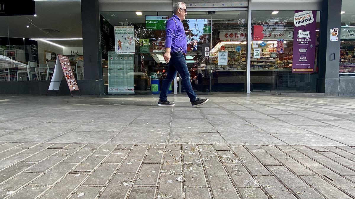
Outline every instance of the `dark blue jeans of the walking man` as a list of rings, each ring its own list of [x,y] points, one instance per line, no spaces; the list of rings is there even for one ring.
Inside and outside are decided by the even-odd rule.
[[[196,94],[192,90],[190,73],[187,69],[185,57],[182,52],[172,52],[170,53],[171,58],[168,64],[168,74],[163,80],[162,91],[160,91],[160,101],[166,101],[168,98],[168,91],[171,85],[171,82],[175,79],[176,74],[179,72],[182,80],[182,84],[185,87],[187,96],[190,98],[190,102],[196,101]]]

